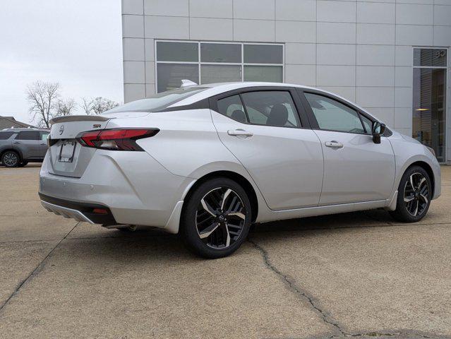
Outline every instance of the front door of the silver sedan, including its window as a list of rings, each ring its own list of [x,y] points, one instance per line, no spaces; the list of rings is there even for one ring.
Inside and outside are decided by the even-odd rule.
[[[324,153],[320,205],[390,198],[395,155],[387,138],[373,142],[372,122],[335,98],[304,93]]]

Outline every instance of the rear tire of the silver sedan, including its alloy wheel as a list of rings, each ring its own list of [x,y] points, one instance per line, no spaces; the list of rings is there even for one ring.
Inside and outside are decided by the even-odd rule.
[[[210,179],[189,194],[179,234],[194,254],[222,258],[246,240],[251,217],[251,202],[239,184],[225,177]]]

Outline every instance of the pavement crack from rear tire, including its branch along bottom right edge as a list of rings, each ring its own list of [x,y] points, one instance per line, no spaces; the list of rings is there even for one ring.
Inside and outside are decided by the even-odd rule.
[[[310,293],[306,292],[303,288],[299,287],[299,285],[296,285],[294,280],[288,277],[288,275],[282,273],[274,264],[271,263],[269,254],[267,253],[267,250],[263,248],[263,246],[257,244],[254,240],[248,239],[248,242],[250,242],[255,249],[257,249],[261,256],[263,257],[263,261],[265,263],[265,266],[269,268],[273,273],[275,273],[282,282],[286,283],[291,291],[296,293],[296,295],[301,296],[303,299],[308,302],[308,304],[311,305],[313,310],[321,317],[324,323],[327,323],[328,325],[332,326],[335,331],[338,331],[338,333],[330,335],[329,337],[320,337],[320,338],[386,338],[386,337],[399,337],[404,336],[403,338],[447,338],[450,339],[449,336],[440,336],[440,335],[433,335],[433,334],[426,334],[421,333],[418,331],[410,331],[410,330],[383,330],[383,331],[368,331],[368,332],[362,332],[362,333],[347,333],[342,328],[342,325],[338,323],[335,319],[332,318],[332,316],[328,315],[327,311],[325,311],[318,302],[315,301],[315,299],[310,295]],[[407,336],[407,337],[406,337]]]

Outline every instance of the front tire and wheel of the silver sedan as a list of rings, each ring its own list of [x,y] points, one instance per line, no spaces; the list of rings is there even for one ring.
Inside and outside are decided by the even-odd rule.
[[[416,222],[426,215],[431,205],[432,185],[423,167],[412,166],[404,172],[398,186],[396,210],[390,211],[400,222]]]

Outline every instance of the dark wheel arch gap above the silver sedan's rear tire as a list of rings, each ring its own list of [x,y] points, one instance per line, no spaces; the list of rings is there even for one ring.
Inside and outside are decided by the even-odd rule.
[[[190,187],[190,189],[188,190],[188,193],[186,194],[186,196],[184,198],[184,206],[182,207],[181,213],[182,214],[184,213],[184,208],[186,206],[185,202],[189,200],[193,191],[198,186],[200,186],[200,184],[203,184],[204,182],[206,182],[210,179],[214,179],[214,178],[218,178],[218,177],[226,177],[228,179],[234,180],[234,182],[240,184],[243,187],[243,189],[248,194],[249,201],[251,202],[251,215],[252,215],[251,221],[255,222],[255,220],[257,219],[257,215],[258,215],[258,197],[255,192],[255,189],[253,188],[251,182],[248,181],[248,179],[243,177],[241,174],[232,172],[232,171],[210,172],[208,174],[203,175],[203,177],[200,177],[198,180],[196,180],[196,182],[193,184],[193,186]]]

